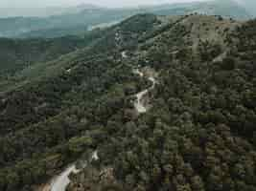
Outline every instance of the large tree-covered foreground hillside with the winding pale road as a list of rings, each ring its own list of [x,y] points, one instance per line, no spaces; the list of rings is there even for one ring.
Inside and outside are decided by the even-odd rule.
[[[95,150],[68,191],[256,190],[256,21],[139,14],[101,33],[0,83],[0,190],[40,191]]]

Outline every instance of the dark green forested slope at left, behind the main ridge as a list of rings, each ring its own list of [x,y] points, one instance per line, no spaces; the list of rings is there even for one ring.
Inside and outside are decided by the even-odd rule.
[[[81,36],[64,36],[52,39],[10,39],[0,38],[0,79],[8,78],[18,71],[32,67],[36,62],[57,59],[88,46],[101,38],[100,30],[86,32]]]

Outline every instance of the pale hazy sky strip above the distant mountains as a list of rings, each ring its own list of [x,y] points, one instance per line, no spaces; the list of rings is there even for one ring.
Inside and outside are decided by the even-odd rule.
[[[47,6],[66,7],[82,3],[95,4],[105,7],[127,7],[192,1],[204,0],[0,0],[0,8],[37,8]]]

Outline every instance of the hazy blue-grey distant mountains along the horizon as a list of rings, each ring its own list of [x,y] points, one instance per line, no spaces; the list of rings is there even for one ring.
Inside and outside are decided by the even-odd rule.
[[[0,19],[0,36],[52,38],[69,34],[74,35],[85,32],[87,29],[92,29],[94,26],[108,26],[108,23],[116,23],[131,15],[145,12],[158,15],[181,15],[198,12],[201,14],[217,14],[246,20],[253,16],[250,11],[251,9],[249,9],[250,6],[248,6],[250,5],[250,0],[247,1],[248,3],[245,4],[237,2],[236,0],[213,0],[128,9],[106,9],[92,5],[81,5],[73,8],[51,8],[48,11],[41,10],[37,11],[37,14],[28,11],[27,14],[23,15],[36,15],[36,17],[18,16]],[[253,3],[254,2],[251,1],[251,4]],[[4,10],[1,11],[0,15],[14,15],[5,13],[5,11],[15,12]],[[17,12],[18,11],[16,11],[16,13]],[[42,12],[44,12],[44,14],[42,14]]]

